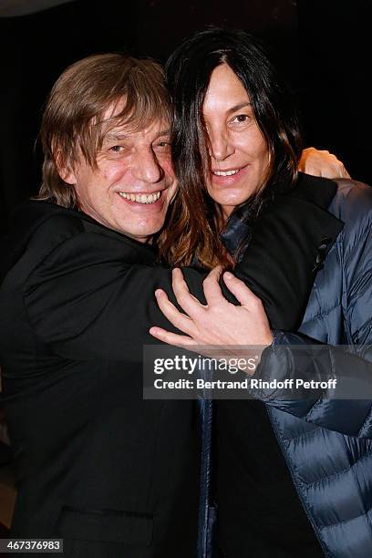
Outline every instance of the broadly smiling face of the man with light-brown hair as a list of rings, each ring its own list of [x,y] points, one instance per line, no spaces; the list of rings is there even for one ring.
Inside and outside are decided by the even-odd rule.
[[[109,130],[97,165],[80,157],[63,177],[76,189],[81,210],[109,229],[148,242],[160,231],[177,190],[169,123],[155,120],[135,132],[125,125]]]

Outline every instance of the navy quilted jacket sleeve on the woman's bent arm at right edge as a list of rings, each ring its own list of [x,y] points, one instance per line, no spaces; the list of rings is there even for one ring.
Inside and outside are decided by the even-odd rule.
[[[357,200],[355,199],[355,194]],[[357,187],[346,198],[343,248],[343,313],[346,346],[321,345],[297,333],[276,331],[258,372],[264,380],[298,378],[327,381],[336,388],[299,387],[288,393],[259,391],[269,405],[349,436],[372,438],[372,189]],[[326,265],[326,262],[325,262]],[[330,385],[332,386],[332,384]]]

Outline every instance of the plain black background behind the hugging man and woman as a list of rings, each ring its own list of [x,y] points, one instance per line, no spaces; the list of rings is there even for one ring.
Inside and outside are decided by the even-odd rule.
[[[40,150],[34,144],[42,106],[68,64],[110,50],[164,62],[182,38],[209,24],[261,36],[294,86],[306,145],[331,150],[353,178],[372,183],[369,5],[370,0],[76,0],[0,17],[0,229],[15,203],[37,191]]]

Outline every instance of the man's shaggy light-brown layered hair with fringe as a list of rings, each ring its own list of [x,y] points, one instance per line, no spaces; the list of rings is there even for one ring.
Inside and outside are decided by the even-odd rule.
[[[114,108],[113,116],[105,119],[109,108]],[[78,207],[74,187],[60,173],[71,169],[80,155],[97,167],[98,151],[110,129],[124,124],[138,131],[155,119],[171,119],[159,64],[102,54],[67,67],[50,92],[42,119],[43,182],[37,199]]]

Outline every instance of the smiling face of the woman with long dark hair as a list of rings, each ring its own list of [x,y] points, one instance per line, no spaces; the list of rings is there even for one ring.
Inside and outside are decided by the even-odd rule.
[[[202,114],[210,140],[207,189],[227,218],[263,184],[269,150],[254,119],[250,98],[226,64],[212,72]]]

